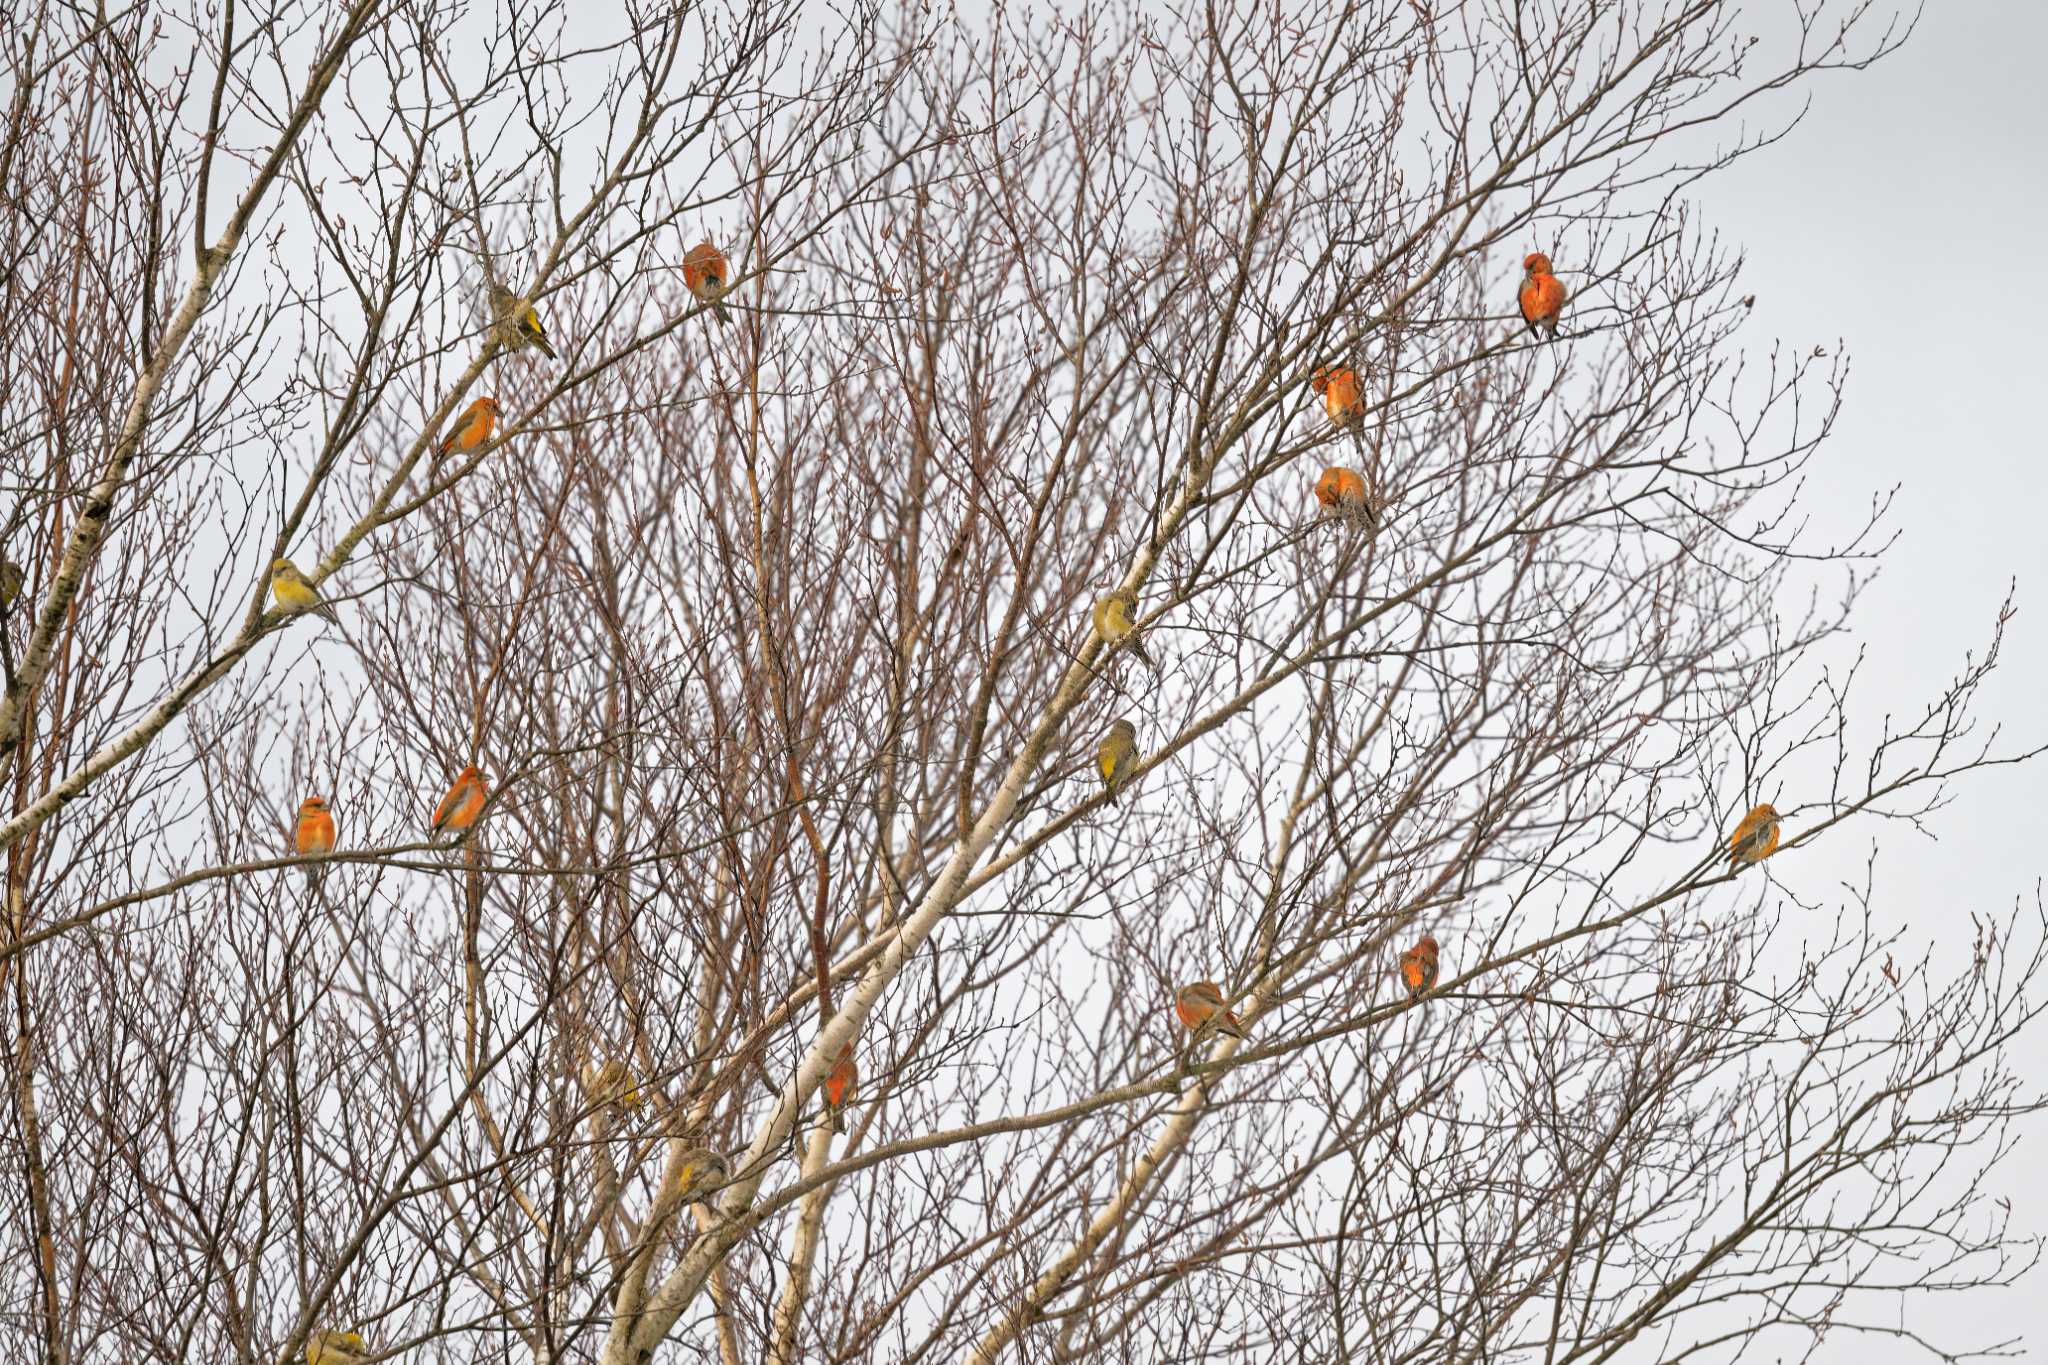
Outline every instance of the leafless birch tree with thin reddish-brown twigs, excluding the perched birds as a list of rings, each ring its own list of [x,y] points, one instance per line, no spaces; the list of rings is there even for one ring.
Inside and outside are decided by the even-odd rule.
[[[1907,35],[1808,10],[14,23],[8,1359],[2003,1347],[1896,1304],[2038,1259],[2042,909],[1800,866],[2032,757],[2011,606],[1853,739],[1688,201]]]

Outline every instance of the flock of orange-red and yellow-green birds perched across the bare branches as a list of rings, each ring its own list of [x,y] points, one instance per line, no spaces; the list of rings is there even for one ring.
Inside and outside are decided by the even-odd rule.
[[[1556,338],[1559,317],[1565,311],[1565,284],[1559,282],[1550,268],[1550,258],[1542,252],[1532,252],[1522,262],[1522,289],[1518,303],[1522,307],[1522,319],[1528,329],[1538,340]],[[719,325],[729,321],[725,295],[731,291],[731,266],[725,254],[709,241],[700,241],[684,254],[682,260],[684,287],[711,309]],[[555,356],[553,344],[547,340],[547,329],[541,325],[541,315],[526,299],[492,284],[492,313],[496,319],[496,340],[504,350],[522,350],[532,346],[549,358]],[[1358,370],[1343,364],[1329,364],[1309,379],[1311,389],[1323,399],[1323,411],[1337,430],[1346,430],[1354,440],[1362,438],[1362,426],[1366,420],[1366,399],[1358,381]],[[449,432],[434,446],[434,463],[453,456],[475,456],[492,440],[498,430],[500,403],[496,397],[479,397],[473,401]],[[1321,503],[1323,514],[1335,522],[1358,526],[1364,530],[1376,530],[1380,512],[1384,512],[1384,501],[1376,491],[1370,489],[1366,477],[1350,467],[1331,465],[1315,481],[1315,499]],[[12,604],[23,585],[23,573],[12,563],[0,563],[0,604]],[[279,559],[270,565],[270,593],[276,606],[287,614],[307,612],[319,616],[322,620],[334,622],[334,608],[322,600],[319,587],[303,575],[297,565],[289,559]],[[1139,618],[1139,596],[1128,587],[1118,587],[1094,606],[1094,628],[1096,634],[1114,651],[1124,649],[1137,655],[1153,673],[1159,671],[1159,663],[1145,649],[1143,632],[1137,628]],[[1102,784],[1106,798],[1116,802],[1130,774],[1139,767],[1139,733],[1137,726],[1118,718],[1110,724],[1108,733],[1102,737],[1096,749],[1096,767],[1102,774]],[[489,786],[483,772],[475,765],[465,767],[457,774],[455,782],[449,786],[446,796],[434,806],[434,814],[428,821],[430,837],[440,837],[444,833],[455,835],[461,843],[467,839],[469,831],[475,829],[477,821],[483,817],[489,804]],[[1735,833],[1729,835],[1729,866],[1739,870],[1749,864],[1759,864],[1778,849],[1778,810],[1769,804],[1759,804],[1743,817]],[[328,806],[326,796],[307,796],[299,806],[299,821],[293,831],[293,851],[305,860],[326,860],[336,847],[336,827],[334,810]],[[307,868],[307,876],[317,886],[322,866],[315,862]],[[1407,988],[1409,1001],[1419,1001],[1430,990],[1436,988],[1438,980],[1438,941],[1434,935],[1421,935],[1413,948],[1401,954],[1397,972],[1401,984]],[[1188,1033],[1188,1050],[1184,1052],[1184,1068],[1188,1066],[1188,1056],[1192,1048],[1204,1040],[1217,1036],[1245,1040],[1245,1027],[1231,1011],[1235,997],[1227,995],[1223,986],[1212,980],[1196,980],[1182,986],[1174,995],[1174,1015],[1180,1019]],[[608,1060],[602,1066],[584,1066],[584,1091],[592,1101],[596,1121],[602,1115],[621,1113],[627,1109],[639,1109],[645,1103],[641,1087],[633,1083],[631,1072],[618,1060]],[[831,1121],[834,1132],[844,1132],[844,1111],[854,1097],[858,1085],[858,1066],[854,1062],[854,1044],[846,1044],[831,1072],[825,1076],[823,1097],[825,1113]],[[676,1181],[680,1185],[680,1197],[684,1201],[696,1201],[717,1193],[733,1177],[731,1162],[719,1152],[702,1146],[688,1148],[676,1166]],[[362,1336],[358,1332],[315,1332],[305,1347],[307,1365],[348,1365],[365,1357]]]

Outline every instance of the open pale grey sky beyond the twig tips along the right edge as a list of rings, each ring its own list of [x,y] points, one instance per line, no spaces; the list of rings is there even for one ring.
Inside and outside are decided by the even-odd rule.
[[[1886,710],[1917,714],[1939,696],[1964,653],[1982,651],[2017,579],[2019,614],[1980,702],[2011,749],[2048,741],[2042,51],[2048,6],[1933,0],[1901,53],[1819,80],[1784,143],[1698,188],[1708,225],[1747,250],[1753,354],[1780,338],[1829,352],[1839,344],[1851,358],[1841,420],[1804,495],[1817,528],[1847,528],[1872,495],[1898,485],[1890,524],[1901,536],[1853,620],[1868,659],[1855,712],[1874,726]],[[1937,960],[1956,962],[1970,911],[2034,905],[2048,870],[2044,810],[2048,759],[1976,774],[1935,817],[1937,841],[1849,825],[1776,876],[1808,913],[1831,917],[1845,898],[1839,884],[1862,880],[1876,845],[1874,909],[1905,925],[1913,952],[1901,960],[1933,941]],[[1788,927],[1800,913],[1788,907]],[[2048,1089],[2048,1031],[2036,1029],[2023,1056],[2036,1093]],[[2044,1171],[2048,1124],[2034,1121],[1993,1181],[2013,1199],[2015,1230],[2048,1232]],[[2044,1297],[2048,1267],[2013,1289],[1921,1302],[1907,1322],[1939,1322],[1954,1345],[2025,1332],[2040,1353]],[[1823,1359],[1927,1357],[1896,1338],[1839,1334]]]

